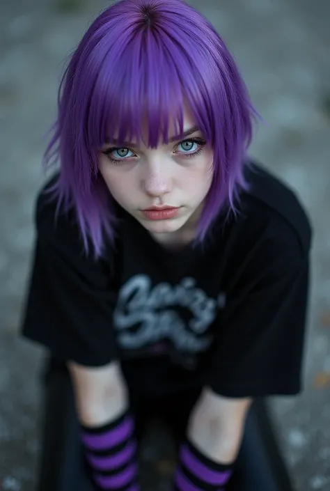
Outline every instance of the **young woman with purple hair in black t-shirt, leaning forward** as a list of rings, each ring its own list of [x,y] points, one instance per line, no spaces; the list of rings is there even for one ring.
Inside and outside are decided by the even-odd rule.
[[[70,59],[23,334],[68,365],[101,490],[139,490],[153,415],[180,446],[174,489],[222,489],[253,398],[301,390],[311,228],[247,158],[254,116],[181,0],[119,1]]]

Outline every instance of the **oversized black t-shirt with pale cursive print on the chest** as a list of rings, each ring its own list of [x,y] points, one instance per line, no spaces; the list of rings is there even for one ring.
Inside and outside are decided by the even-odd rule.
[[[256,165],[246,175],[236,215],[219,214],[202,246],[164,249],[120,208],[99,259],[43,189],[24,336],[63,361],[120,359],[146,393],[298,393],[311,226],[278,179]]]

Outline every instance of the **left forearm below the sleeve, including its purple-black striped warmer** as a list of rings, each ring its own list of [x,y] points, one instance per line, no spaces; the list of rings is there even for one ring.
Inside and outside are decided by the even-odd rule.
[[[117,361],[89,368],[70,361],[81,442],[97,489],[132,489],[137,483],[134,419]]]

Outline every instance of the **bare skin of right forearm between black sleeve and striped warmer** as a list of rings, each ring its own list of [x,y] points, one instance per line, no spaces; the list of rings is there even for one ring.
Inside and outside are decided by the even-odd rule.
[[[251,403],[250,398],[225,398],[205,388],[191,414],[189,440],[214,462],[231,464],[237,458]]]

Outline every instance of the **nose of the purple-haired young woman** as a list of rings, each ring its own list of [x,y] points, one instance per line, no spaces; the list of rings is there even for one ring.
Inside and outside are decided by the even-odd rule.
[[[143,191],[152,196],[160,198],[171,192],[171,177],[168,176],[166,163],[154,161],[146,163],[146,174],[143,176]]]

